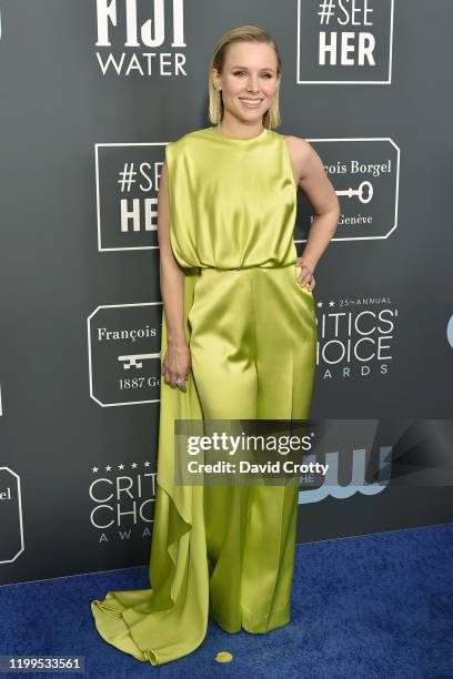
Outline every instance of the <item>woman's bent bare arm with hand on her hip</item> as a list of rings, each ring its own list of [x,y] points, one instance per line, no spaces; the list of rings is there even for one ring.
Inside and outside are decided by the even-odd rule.
[[[288,146],[298,184],[305,193],[315,217],[310,227],[306,245],[298,262],[313,273],[338,229],[341,214],[340,203],[324,166],[313,146],[299,136],[288,136]],[[310,280],[310,273],[302,268],[301,285]]]

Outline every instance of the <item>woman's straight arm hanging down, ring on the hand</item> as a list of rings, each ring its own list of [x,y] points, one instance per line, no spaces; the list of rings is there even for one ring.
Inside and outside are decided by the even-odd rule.
[[[184,335],[184,274],[174,259],[170,241],[170,199],[167,162],[163,162],[158,195],[160,286],[167,318],[168,348],[162,375],[174,385],[190,372],[190,349]],[[181,387],[185,392],[185,387]]]

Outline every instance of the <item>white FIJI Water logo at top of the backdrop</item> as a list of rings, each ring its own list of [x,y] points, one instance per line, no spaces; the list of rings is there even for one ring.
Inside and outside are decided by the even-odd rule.
[[[187,75],[183,10],[183,0],[97,0],[101,73]]]

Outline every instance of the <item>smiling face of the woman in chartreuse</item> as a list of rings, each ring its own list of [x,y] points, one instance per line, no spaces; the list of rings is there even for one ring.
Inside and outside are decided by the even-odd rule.
[[[276,54],[261,42],[234,42],[226,50],[223,73],[213,73],[222,89],[226,115],[242,122],[260,122],[278,87]]]

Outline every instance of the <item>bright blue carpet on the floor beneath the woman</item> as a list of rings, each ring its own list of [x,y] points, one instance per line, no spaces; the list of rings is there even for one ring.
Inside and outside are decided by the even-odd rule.
[[[108,645],[90,610],[147,578],[132,568],[0,587],[0,652],[84,656],[84,677],[100,679],[453,677],[453,524],[298,545],[289,625],[229,635],[210,621],[201,647],[160,667]],[[231,662],[214,660],[221,650]]]

